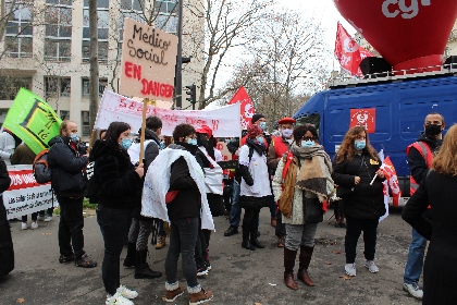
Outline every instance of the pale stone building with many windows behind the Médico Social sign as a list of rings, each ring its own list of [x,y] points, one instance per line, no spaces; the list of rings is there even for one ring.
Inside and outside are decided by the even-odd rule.
[[[186,0],[195,1],[195,0]],[[184,8],[188,8],[184,2]],[[0,39],[0,123],[3,122],[20,87],[46,99],[62,119],[79,126],[88,139],[89,130],[89,11],[88,0],[2,0],[11,12]],[[15,7],[12,9],[12,3]],[[188,3],[187,3],[188,4]],[[194,5],[196,3],[193,3]],[[119,89],[119,66],[125,17],[153,24],[176,34],[176,0],[98,0],[99,94]],[[205,33],[205,23],[183,10],[186,25]],[[190,27],[190,26],[189,26]],[[184,64],[183,86],[198,84],[192,71],[202,70],[199,46],[183,36],[183,56],[193,57]],[[188,41],[187,41],[188,40]],[[189,72],[187,72],[189,71]],[[185,90],[183,90],[185,95]],[[186,105],[183,98],[183,108]]]

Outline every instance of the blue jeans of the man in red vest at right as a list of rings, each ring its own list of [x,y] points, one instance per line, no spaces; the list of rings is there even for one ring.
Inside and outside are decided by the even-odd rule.
[[[412,242],[409,245],[408,261],[405,267],[404,283],[419,283],[422,273],[423,256],[427,247],[427,239],[412,229]]]

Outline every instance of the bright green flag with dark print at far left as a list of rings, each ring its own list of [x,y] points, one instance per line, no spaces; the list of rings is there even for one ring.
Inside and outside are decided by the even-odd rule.
[[[59,134],[62,120],[36,94],[21,88],[4,119],[3,126],[18,136],[35,154],[48,148]]]

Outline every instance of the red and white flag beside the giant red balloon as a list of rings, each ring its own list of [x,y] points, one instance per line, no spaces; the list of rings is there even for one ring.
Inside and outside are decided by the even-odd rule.
[[[350,73],[350,75],[361,76],[362,72],[359,68],[360,62],[367,57],[374,56],[357,45],[353,37],[350,37],[347,30],[338,22],[335,41],[335,57],[338,59],[343,70]]]

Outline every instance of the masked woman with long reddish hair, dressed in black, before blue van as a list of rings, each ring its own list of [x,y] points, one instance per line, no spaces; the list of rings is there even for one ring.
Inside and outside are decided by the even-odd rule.
[[[356,248],[362,231],[365,267],[372,273],[379,271],[374,265],[376,229],[379,218],[385,213],[384,174],[380,167],[381,160],[370,145],[365,127],[351,127],[335,156],[332,175],[338,187],[351,191],[345,195],[343,204],[347,227],[345,271],[350,277],[356,276]]]

